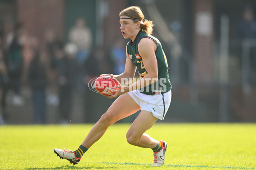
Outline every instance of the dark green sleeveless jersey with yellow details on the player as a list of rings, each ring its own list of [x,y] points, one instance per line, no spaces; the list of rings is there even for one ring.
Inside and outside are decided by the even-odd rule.
[[[132,42],[131,40],[127,45],[128,56],[137,66],[140,78],[143,78],[145,75],[148,74],[145,66],[143,65],[143,59],[141,58],[138,51],[138,44],[143,38],[149,38],[157,43],[157,50],[155,51],[155,55],[157,57],[158,81],[139,89],[139,91],[147,95],[164,94],[171,90],[172,85],[169,79],[166,55],[163,52],[160,41],[157,40],[157,38],[151,36],[150,34],[147,34],[145,31],[140,31],[137,34],[134,42]]]

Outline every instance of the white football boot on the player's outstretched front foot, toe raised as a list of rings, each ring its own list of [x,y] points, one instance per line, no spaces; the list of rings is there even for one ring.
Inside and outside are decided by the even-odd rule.
[[[66,149],[64,147],[64,149]],[[54,153],[57,154],[57,156],[60,157],[60,159],[67,159],[68,161],[70,161],[70,164],[78,164],[79,161],[81,160],[81,158],[77,158],[76,154],[73,150],[62,150],[62,149],[54,149]]]

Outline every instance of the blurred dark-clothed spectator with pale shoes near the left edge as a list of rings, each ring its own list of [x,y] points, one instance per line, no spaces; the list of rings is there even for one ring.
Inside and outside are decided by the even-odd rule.
[[[8,86],[9,90],[14,91],[12,103],[14,105],[23,105],[24,100],[20,95],[21,77],[23,73],[23,25],[17,23],[13,32],[7,36],[7,70],[8,70]],[[8,89],[6,89],[8,90]]]

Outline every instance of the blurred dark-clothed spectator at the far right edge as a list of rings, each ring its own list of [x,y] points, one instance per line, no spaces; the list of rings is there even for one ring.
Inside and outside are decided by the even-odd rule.
[[[240,44],[247,40],[249,42],[256,41],[256,20],[254,18],[253,7],[250,5],[244,6],[242,19],[238,23],[238,39]],[[250,48],[250,68],[252,81],[256,82],[256,47]]]

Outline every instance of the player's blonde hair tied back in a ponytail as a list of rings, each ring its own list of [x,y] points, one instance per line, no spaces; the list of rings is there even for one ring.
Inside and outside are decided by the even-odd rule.
[[[144,19],[144,14],[140,7],[138,6],[130,6],[128,8],[125,8],[119,13],[119,16],[127,16],[130,18],[142,20],[140,24],[140,28],[145,31],[148,34],[152,34],[153,32],[153,21]],[[138,21],[134,20],[134,23],[137,23]]]

